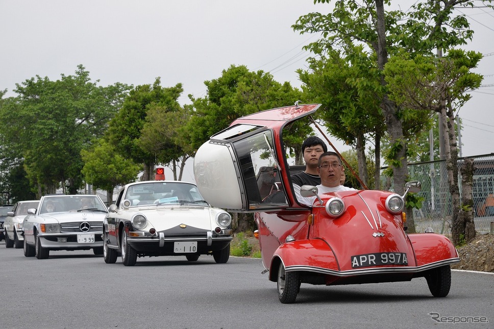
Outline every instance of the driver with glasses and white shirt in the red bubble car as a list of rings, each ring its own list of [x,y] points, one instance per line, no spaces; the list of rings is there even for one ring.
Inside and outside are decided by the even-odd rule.
[[[353,191],[354,188],[346,187],[340,184],[342,172],[344,168],[341,164],[341,159],[335,152],[325,152],[319,157],[317,163],[317,172],[321,180],[321,184],[316,185],[317,193],[323,194],[328,192]],[[300,193],[300,189],[299,189]],[[315,196],[300,197],[300,203],[312,206]]]

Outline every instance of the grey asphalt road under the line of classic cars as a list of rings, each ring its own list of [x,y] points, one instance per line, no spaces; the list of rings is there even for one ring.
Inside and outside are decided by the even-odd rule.
[[[425,279],[302,284],[284,305],[262,270],[257,259],[211,256],[140,258],[134,267],[92,251],[37,260],[2,241],[0,328],[494,328],[494,274],[453,271],[445,298],[432,297]]]

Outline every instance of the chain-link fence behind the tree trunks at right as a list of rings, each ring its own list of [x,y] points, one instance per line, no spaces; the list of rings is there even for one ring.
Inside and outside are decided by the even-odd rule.
[[[490,232],[494,221],[494,154],[469,157],[474,159],[475,171],[472,194],[474,199],[475,229],[479,233]],[[459,158],[460,164],[464,158]],[[448,188],[446,161],[430,161],[408,165],[410,181],[419,181],[424,197],[421,209],[413,210],[415,229],[424,232],[432,227],[434,232],[451,236],[451,194]],[[458,170],[461,195],[461,173]],[[492,197],[491,203],[489,199]]]

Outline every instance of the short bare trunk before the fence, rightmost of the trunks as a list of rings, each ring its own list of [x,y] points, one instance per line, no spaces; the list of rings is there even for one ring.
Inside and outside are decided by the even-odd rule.
[[[458,222],[464,224],[466,243],[475,238],[474,199],[472,197],[474,171],[474,159],[465,159],[460,167],[462,207],[460,209]]]

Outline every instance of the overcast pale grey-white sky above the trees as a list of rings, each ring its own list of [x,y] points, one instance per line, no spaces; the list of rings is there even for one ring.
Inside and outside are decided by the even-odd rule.
[[[408,2],[414,1],[393,1],[402,9]],[[189,93],[204,96],[204,81],[232,64],[269,71],[277,81],[299,87],[295,70],[304,68],[310,55],[302,46],[317,36],[299,35],[290,26],[304,14],[330,8],[312,0],[0,0],[0,90],[13,96],[16,83],[36,75],[57,80],[78,64],[102,86],[150,84],[156,77],[164,87],[182,83],[181,104],[189,103]],[[485,87],[460,111],[462,156],[490,154],[494,11],[462,13],[476,32],[467,47],[490,54],[477,70],[485,75]]]

